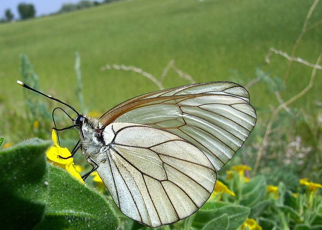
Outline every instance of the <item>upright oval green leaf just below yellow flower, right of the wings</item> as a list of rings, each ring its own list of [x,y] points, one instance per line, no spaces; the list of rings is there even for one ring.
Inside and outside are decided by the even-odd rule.
[[[245,183],[242,189],[240,204],[247,207],[255,206],[266,193],[266,179],[263,176],[254,177]]]

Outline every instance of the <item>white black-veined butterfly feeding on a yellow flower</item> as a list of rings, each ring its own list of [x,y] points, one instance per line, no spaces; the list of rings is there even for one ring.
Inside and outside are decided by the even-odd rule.
[[[174,87],[129,99],[99,119],[77,115],[80,148],[120,211],[158,227],[182,220],[210,197],[217,172],[256,123],[247,90],[233,82]],[[66,113],[67,114],[67,113]],[[57,129],[56,130],[64,130]]]

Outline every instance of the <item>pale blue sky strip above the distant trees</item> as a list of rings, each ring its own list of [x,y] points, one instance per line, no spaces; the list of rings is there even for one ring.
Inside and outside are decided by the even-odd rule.
[[[33,4],[36,16],[55,13],[62,7],[63,3],[78,3],[80,0],[0,0],[0,18],[5,16],[5,10],[10,9],[14,19],[19,19],[17,6],[19,3]],[[101,1],[99,1],[101,2]]]

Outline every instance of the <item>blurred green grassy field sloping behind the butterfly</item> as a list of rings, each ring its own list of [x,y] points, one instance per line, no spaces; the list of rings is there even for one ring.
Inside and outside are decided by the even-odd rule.
[[[121,1],[68,14],[0,24],[0,116],[24,113],[19,55],[27,54],[40,77],[43,92],[78,109],[75,96],[74,53],[81,57],[85,105],[101,113],[138,94],[157,90],[139,74],[106,70],[105,64],[133,65],[158,77],[170,60],[197,82],[255,77],[257,67],[283,78],[288,61],[278,55],[264,63],[270,47],[291,52],[313,0],[197,0]],[[310,24],[321,19],[322,2]],[[295,56],[315,63],[322,51],[322,26],[308,31]],[[288,99],[303,89],[312,69],[293,64]],[[321,71],[314,87],[297,105],[306,111],[321,101]],[[188,82],[170,72],[166,87]],[[250,88],[255,107],[276,104],[257,84]],[[310,103],[308,103],[308,101]],[[260,117],[259,117],[260,118]],[[15,130],[0,122],[2,135],[12,140]],[[12,122],[12,121],[11,121]],[[23,127],[20,127],[23,128]],[[19,137],[22,138],[23,137]]]

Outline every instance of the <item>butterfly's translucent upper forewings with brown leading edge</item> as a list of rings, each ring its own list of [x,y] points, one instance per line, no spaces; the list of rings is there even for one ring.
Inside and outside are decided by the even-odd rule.
[[[249,94],[232,82],[209,82],[132,98],[100,117],[147,124],[174,133],[201,149],[216,171],[242,146],[256,122]]]

